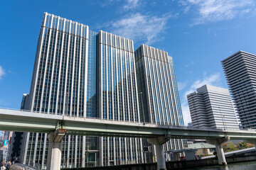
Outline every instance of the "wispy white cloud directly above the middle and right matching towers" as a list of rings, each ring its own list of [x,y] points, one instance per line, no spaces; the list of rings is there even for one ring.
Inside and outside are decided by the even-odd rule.
[[[112,33],[130,40],[143,41],[146,45],[161,40],[161,33],[165,29],[167,20],[171,15],[150,16],[142,13],[133,13],[118,21],[107,24]]]

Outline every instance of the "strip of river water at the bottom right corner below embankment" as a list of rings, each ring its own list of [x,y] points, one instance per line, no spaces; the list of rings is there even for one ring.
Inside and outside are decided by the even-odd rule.
[[[256,170],[256,162],[241,162],[237,164],[228,164],[228,166],[208,166],[187,170]]]

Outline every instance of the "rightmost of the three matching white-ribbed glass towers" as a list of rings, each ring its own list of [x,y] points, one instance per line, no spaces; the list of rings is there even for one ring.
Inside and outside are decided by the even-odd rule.
[[[138,91],[141,95],[139,98],[141,121],[158,125],[183,126],[183,115],[172,58],[168,56],[167,52],[147,45],[139,46],[134,55]],[[146,144],[146,141],[144,143],[144,145],[149,145]],[[164,151],[182,148],[182,140],[172,139],[164,145]],[[155,157],[154,146],[152,154]],[[166,159],[171,159],[169,155],[166,156],[168,156]]]

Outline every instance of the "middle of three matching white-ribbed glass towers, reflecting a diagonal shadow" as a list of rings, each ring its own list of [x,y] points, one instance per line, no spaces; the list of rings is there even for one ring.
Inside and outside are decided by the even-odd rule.
[[[133,41],[100,30],[97,95],[102,119],[139,122]],[[142,139],[100,137],[100,165],[141,163]]]

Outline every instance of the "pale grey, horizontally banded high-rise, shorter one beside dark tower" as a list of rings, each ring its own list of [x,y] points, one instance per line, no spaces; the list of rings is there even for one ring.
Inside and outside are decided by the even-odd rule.
[[[228,89],[204,85],[187,97],[193,127],[239,129]]]

